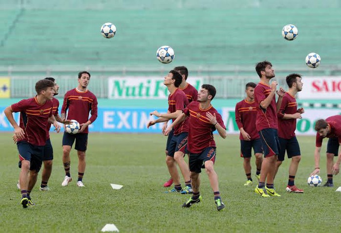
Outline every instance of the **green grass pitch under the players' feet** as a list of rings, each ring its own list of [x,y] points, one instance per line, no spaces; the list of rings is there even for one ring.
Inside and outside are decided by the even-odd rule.
[[[162,187],[169,174],[164,162],[166,137],[154,134],[89,134],[85,188],[76,186],[77,155],[72,150],[71,175],[74,180],[62,187],[62,134],[52,133],[54,167],[50,192],[31,193],[36,206],[23,209],[16,183],[18,152],[11,141],[12,133],[0,134],[0,229],[1,232],[100,232],[115,224],[124,232],[339,232],[341,177],[334,178],[334,188],[310,188],[306,180],[314,169],[314,137],[298,137],[302,160],[296,185],[303,194],[287,193],[288,165],[279,169],[275,186],[282,196],[261,198],[246,181],[239,157],[237,135],[225,140],[215,136],[215,169],[226,205],[218,212],[205,172],[201,175],[203,201],[189,209],[181,208],[189,195],[164,193]],[[321,177],[325,182],[325,145],[322,148]],[[255,173],[254,159],[253,178]],[[110,183],[121,184],[113,190]],[[183,183],[183,180],[182,180]]]

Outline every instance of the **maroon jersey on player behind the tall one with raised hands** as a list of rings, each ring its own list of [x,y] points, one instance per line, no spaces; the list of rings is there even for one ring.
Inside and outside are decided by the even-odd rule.
[[[247,132],[251,140],[259,138],[259,134],[256,129],[256,116],[257,116],[257,104],[256,101],[247,102],[242,100],[235,105],[235,122],[238,128],[241,127]],[[244,140],[243,135],[239,134],[239,139]]]

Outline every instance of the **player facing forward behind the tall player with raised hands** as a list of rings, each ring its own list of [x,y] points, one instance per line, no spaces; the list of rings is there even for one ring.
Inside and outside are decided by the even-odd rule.
[[[263,161],[262,143],[256,130],[257,104],[255,102],[255,83],[245,85],[246,98],[235,105],[235,122],[240,130],[240,157],[244,159],[243,167],[247,181],[245,186],[252,185],[251,152],[254,148],[256,157],[256,177],[259,181]]]

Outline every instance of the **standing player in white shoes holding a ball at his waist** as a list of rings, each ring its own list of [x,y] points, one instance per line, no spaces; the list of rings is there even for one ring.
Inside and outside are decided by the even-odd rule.
[[[63,165],[65,178],[62,186],[71,182],[70,175],[70,151],[76,140],[75,149],[78,155],[78,187],[85,187],[83,176],[85,172],[85,151],[87,146],[88,126],[97,118],[97,98],[87,89],[90,82],[90,73],[81,71],[78,73],[78,86],[66,92],[62,106],[62,118],[76,120],[81,125],[77,134],[69,134],[64,131],[63,135]],[[67,117],[66,116],[66,111]],[[91,117],[89,113],[91,112]]]

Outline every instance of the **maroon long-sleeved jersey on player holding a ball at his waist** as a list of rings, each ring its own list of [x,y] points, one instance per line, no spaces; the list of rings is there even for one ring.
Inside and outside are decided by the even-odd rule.
[[[88,120],[93,123],[97,118],[97,98],[89,90],[81,92],[74,88],[66,92],[64,96],[64,102],[62,106],[61,113],[66,113],[68,120],[76,120],[78,123],[84,124]],[[89,113],[91,112],[91,117],[89,118]],[[88,133],[88,127],[82,133]]]

